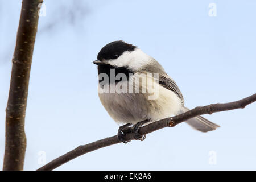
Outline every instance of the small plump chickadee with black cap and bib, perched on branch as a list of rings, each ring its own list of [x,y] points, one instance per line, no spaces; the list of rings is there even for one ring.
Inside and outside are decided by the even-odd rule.
[[[183,96],[177,84],[163,67],[138,47],[121,40],[106,44],[98,53],[98,95],[110,117],[119,127],[118,138],[123,141],[122,130],[134,125],[135,139],[142,140],[138,129],[144,123],[183,113]],[[215,123],[198,116],[186,121],[194,129],[215,130]]]

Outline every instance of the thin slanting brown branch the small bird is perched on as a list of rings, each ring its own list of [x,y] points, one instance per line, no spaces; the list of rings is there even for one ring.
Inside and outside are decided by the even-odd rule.
[[[195,109],[189,110],[183,114],[176,115],[175,117],[165,118],[160,121],[156,121],[149,125],[143,126],[139,130],[139,133],[144,135],[162,129],[164,127],[174,127],[181,122],[187,121],[188,119],[196,117],[197,115],[201,114],[212,114],[220,111],[244,108],[246,105],[251,104],[255,101],[256,93],[250,97],[243,98],[242,100],[236,102],[229,102],[225,104],[211,104],[203,107],[195,107]],[[134,140],[133,133],[127,133],[124,139],[127,141]],[[48,164],[39,168],[38,170],[44,171],[55,169],[56,167],[59,167],[62,164],[67,163],[69,160],[75,159],[80,155],[117,143],[121,142],[118,140],[117,135],[115,135],[113,137],[101,139],[96,142],[79,146],[74,150],[68,152],[67,154],[64,154],[59,158],[52,160]]]

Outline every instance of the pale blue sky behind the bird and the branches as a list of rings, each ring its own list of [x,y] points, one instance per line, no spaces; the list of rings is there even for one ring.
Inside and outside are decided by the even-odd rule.
[[[92,61],[106,43],[125,40],[151,55],[179,85],[191,109],[256,91],[256,1],[49,1],[40,17],[26,115],[24,169],[37,169],[80,144],[115,135],[118,125],[97,95]],[[80,5],[81,3],[81,5]],[[217,16],[208,15],[216,3]],[[5,107],[21,1],[0,1],[0,167]],[[79,13],[73,15],[72,9]],[[74,18],[72,18],[74,17]],[[206,115],[220,129],[182,123],[116,144],[57,169],[256,169],[256,104]],[[217,164],[209,164],[209,152]]]

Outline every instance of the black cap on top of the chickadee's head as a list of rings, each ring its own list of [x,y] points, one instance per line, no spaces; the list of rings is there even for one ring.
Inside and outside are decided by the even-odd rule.
[[[100,52],[98,53],[97,59],[108,60],[108,59],[117,59],[119,56],[122,55],[125,51],[134,51],[137,47],[133,46],[132,44],[127,44],[122,40],[114,41],[109,44],[106,44]]]

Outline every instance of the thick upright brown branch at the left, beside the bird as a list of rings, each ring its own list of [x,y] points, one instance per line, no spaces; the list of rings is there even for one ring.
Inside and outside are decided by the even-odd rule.
[[[24,131],[28,82],[36,31],[39,3],[42,0],[23,0],[13,55],[9,99],[6,107],[5,158],[3,170],[22,170],[26,152]]]

